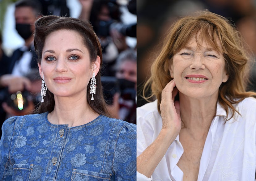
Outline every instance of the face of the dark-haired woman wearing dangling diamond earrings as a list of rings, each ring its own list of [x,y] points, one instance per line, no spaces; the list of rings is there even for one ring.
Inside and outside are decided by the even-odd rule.
[[[91,63],[78,32],[58,30],[46,37],[39,72],[55,96],[86,95],[90,78],[99,68],[100,57]]]

